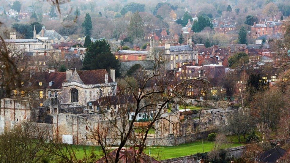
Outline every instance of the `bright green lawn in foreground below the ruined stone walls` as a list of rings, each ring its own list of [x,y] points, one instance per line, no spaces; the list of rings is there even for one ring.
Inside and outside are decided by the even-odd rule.
[[[236,147],[241,146],[243,144],[239,143],[228,143],[225,145],[224,148],[230,148],[230,147]],[[196,141],[192,143],[186,143],[181,144],[178,146],[152,146],[151,147],[151,156],[154,157],[157,160],[163,160],[163,159],[170,159],[175,157],[181,157],[181,156],[187,156],[192,155],[195,153],[202,153],[202,152],[208,152],[214,147],[214,142],[204,141],[203,143],[204,148],[202,148],[202,141]],[[78,159],[83,158],[84,155],[84,149],[86,150],[86,153],[90,153],[91,149],[93,147],[91,146],[74,146],[77,150],[75,152],[75,155]],[[94,147],[94,153],[96,155],[100,156],[100,148]],[[147,155],[149,154],[149,147],[147,146],[144,153]]]

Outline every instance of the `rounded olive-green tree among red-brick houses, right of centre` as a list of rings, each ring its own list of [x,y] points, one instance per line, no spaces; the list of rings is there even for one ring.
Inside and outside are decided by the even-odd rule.
[[[247,64],[249,62],[249,55],[245,52],[238,52],[228,58],[228,66],[236,68],[239,64]]]

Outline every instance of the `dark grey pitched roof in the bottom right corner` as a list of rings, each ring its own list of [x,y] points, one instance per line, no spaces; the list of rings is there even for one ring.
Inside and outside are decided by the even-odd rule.
[[[262,153],[259,157],[260,162],[275,163],[286,151],[278,146]]]

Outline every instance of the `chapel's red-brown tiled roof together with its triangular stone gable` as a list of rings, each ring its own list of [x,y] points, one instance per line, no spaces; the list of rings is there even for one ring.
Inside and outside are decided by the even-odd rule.
[[[106,71],[106,69],[75,71],[68,80],[68,83],[75,81],[85,85],[102,84],[105,83],[105,74],[107,73],[108,72]],[[113,82],[110,75],[108,75],[108,82]]]

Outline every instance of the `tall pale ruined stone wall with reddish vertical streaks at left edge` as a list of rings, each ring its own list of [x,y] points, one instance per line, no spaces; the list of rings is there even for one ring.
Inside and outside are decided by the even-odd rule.
[[[30,106],[28,98],[14,97],[1,99],[0,132],[16,124],[30,121]]]

